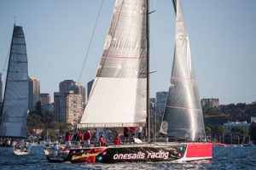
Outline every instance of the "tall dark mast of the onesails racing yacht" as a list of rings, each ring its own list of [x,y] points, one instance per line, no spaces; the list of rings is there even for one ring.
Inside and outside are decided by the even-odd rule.
[[[149,95],[149,1],[147,0],[147,120],[146,120],[146,136],[150,140],[150,95]]]

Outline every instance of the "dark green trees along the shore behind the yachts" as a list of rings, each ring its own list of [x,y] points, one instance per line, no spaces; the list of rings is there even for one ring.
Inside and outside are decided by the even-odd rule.
[[[251,116],[256,116],[256,102],[253,104],[230,104],[220,105],[218,108],[204,106],[202,108],[204,114],[205,128],[207,139],[222,142],[226,144],[241,144],[253,140],[256,142],[256,123],[252,123],[249,132],[243,128],[234,127],[230,132],[225,132],[224,122],[251,122]],[[60,139],[67,130],[71,130],[73,126],[62,122],[55,122],[54,112],[42,111],[41,103],[38,102],[35,111],[31,111],[27,117],[27,127],[29,133],[35,133],[35,129],[44,129],[41,139],[46,139],[48,132],[49,138],[52,140]],[[151,112],[151,133],[157,134],[160,130],[160,122],[162,116]]]

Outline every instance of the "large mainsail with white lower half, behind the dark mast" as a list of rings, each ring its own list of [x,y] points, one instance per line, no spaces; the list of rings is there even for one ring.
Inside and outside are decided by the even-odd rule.
[[[147,8],[146,0],[116,0],[80,127],[145,125]]]

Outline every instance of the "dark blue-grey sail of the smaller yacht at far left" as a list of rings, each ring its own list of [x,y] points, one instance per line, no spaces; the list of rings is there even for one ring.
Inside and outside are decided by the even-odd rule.
[[[14,26],[3,96],[0,137],[26,138],[28,107],[26,42],[21,26]]]

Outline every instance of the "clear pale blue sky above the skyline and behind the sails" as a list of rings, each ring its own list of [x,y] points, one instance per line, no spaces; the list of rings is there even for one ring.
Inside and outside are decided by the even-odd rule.
[[[0,0],[0,72],[14,23],[26,37],[29,76],[53,101],[59,83],[79,81],[102,0]],[[96,75],[114,0],[104,0],[80,83]],[[256,1],[183,0],[192,62],[201,98],[223,105],[256,101]],[[150,96],[167,91],[172,71],[175,15],[172,0],[151,0]],[[6,72],[3,72],[3,76]]]

